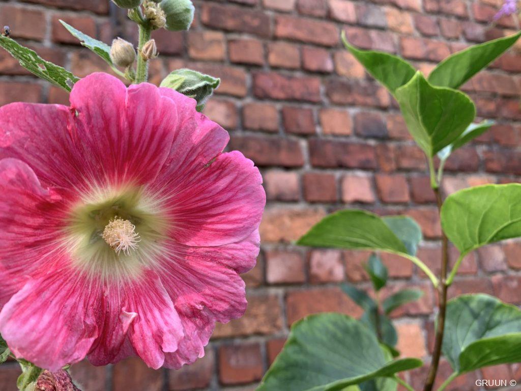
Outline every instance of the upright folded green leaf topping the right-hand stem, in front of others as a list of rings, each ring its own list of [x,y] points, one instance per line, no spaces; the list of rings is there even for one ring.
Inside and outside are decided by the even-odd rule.
[[[396,100],[409,132],[429,157],[460,137],[476,115],[466,94],[434,87],[421,72],[396,90]]]

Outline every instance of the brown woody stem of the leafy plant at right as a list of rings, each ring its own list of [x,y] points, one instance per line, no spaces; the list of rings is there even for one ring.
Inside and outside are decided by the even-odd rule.
[[[432,169],[431,169],[432,174]],[[432,189],[436,195],[436,203],[438,205],[438,213],[441,212],[441,205],[443,203],[441,198],[441,191],[438,186]],[[434,351],[432,352],[432,360],[430,362],[429,373],[425,382],[424,391],[431,391],[436,380],[436,373],[438,372],[438,364],[440,363],[441,345],[443,343],[443,332],[445,330],[445,311],[447,304],[447,288],[446,283],[447,267],[449,264],[449,239],[442,231],[442,248],[441,248],[441,271],[440,284],[438,286],[438,319],[436,325],[436,337],[434,342]]]

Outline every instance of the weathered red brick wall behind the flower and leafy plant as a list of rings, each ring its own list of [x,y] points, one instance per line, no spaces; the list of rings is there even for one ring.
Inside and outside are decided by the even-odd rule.
[[[396,103],[342,50],[339,36],[344,28],[355,45],[401,54],[428,71],[468,43],[515,29],[513,19],[489,28],[499,1],[480,1],[197,1],[189,33],[156,32],[162,57],[152,63],[153,82],[181,66],[222,79],[206,113],[231,132],[231,149],[242,150],[262,168],[268,195],[263,249],[258,265],[244,276],[250,302],[246,315],[217,327],[204,359],[177,372],[149,370],[132,359],[111,368],[82,363],[73,367],[73,375],[84,391],[253,390],[293,321],[316,311],[359,315],[338,285],[348,280],[369,287],[362,268],[367,254],[291,245],[333,210],[410,214],[424,230],[420,258],[436,268],[440,228],[425,159]],[[10,25],[15,38],[47,59],[84,76],[107,67],[57,20],[105,42],[114,35],[132,38],[135,31],[115,11],[107,0],[2,0],[0,24]],[[479,116],[499,125],[453,154],[445,192],[521,178],[520,70],[521,56],[514,51],[465,86]],[[19,100],[61,103],[67,96],[0,52],[0,104]],[[517,243],[470,254],[451,295],[483,291],[521,303],[520,254]],[[384,261],[392,278],[386,294],[403,286],[425,291],[423,299],[395,316],[402,352],[427,356],[435,292],[407,260],[384,256]],[[442,376],[448,371],[445,362]],[[484,372],[456,381],[455,389],[477,389],[474,381],[480,376],[521,377],[517,367]],[[0,391],[14,389],[17,373],[14,363],[0,367]],[[413,374],[415,388],[424,374]]]

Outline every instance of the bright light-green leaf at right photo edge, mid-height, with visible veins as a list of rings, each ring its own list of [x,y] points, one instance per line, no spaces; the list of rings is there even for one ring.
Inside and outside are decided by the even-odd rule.
[[[462,253],[521,236],[521,185],[483,185],[451,194],[441,225]]]

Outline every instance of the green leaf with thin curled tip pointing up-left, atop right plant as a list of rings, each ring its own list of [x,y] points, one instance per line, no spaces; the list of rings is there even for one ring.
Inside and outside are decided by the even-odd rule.
[[[392,94],[407,83],[416,69],[404,59],[385,52],[360,50],[351,45],[342,31],[345,48],[365,67],[371,76],[384,85]]]

